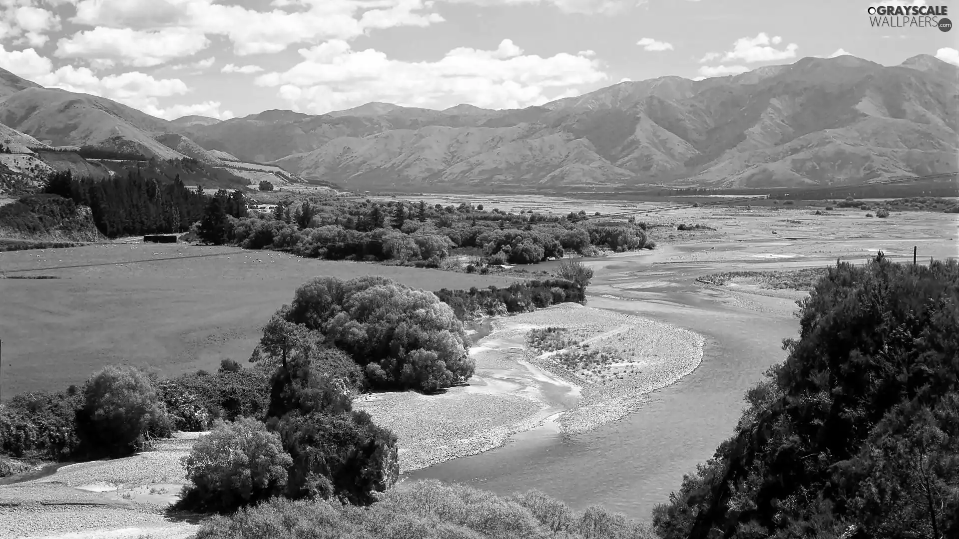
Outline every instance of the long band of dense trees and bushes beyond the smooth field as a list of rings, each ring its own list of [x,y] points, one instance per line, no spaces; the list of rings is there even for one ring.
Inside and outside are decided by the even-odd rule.
[[[444,208],[422,201],[288,197],[278,200],[269,215],[231,222],[228,237],[246,248],[297,247],[292,252],[307,257],[422,261],[433,267],[460,247],[481,249],[490,264],[500,265],[538,264],[571,249],[595,255],[598,247],[621,251],[654,245],[643,223],[580,221],[487,212],[465,203]]]

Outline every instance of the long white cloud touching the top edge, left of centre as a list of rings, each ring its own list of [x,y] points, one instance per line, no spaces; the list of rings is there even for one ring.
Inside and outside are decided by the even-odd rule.
[[[240,56],[278,53],[295,43],[352,39],[371,29],[428,26],[443,17],[423,0],[274,1],[259,12],[216,0],[80,0],[75,24],[159,31],[187,28],[224,35]],[[432,5],[432,4],[431,4]],[[292,9],[292,11],[291,11]]]

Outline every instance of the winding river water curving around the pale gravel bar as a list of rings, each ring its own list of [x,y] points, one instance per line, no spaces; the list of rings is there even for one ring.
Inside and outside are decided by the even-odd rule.
[[[601,504],[648,518],[683,475],[732,434],[746,389],[784,359],[782,340],[798,331],[789,300],[751,295],[744,302],[694,284],[699,275],[728,268],[653,265],[676,252],[666,247],[589,261],[596,270],[589,305],[704,335],[703,361],[692,374],[647,394],[639,411],[589,433],[567,436],[549,422],[498,449],[405,477],[467,482],[499,494],[537,488],[576,509]]]

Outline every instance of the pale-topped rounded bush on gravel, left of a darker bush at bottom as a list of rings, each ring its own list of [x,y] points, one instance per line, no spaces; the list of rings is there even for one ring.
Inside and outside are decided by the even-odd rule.
[[[254,419],[218,422],[183,457],[187,479],[177,508],[228,512],[281,494],[292,458],[277,434]]]

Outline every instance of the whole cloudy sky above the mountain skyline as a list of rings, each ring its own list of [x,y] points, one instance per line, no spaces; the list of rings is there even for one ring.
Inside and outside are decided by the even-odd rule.
[[[959,20],[923,0],[0,0],[0,67],[169,120],[516,108],[843,54],[959,65],[959,30],[874,27],[880,4]]]

